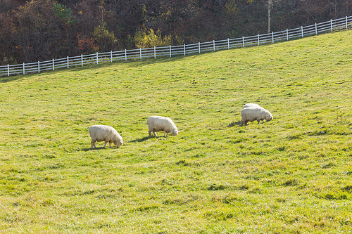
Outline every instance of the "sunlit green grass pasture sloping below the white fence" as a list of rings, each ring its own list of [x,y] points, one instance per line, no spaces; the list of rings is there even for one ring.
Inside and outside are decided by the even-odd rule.
[[[351,39],[0,77],[0,233],[351,233]]]

